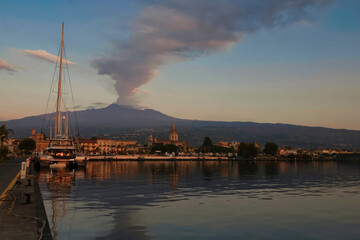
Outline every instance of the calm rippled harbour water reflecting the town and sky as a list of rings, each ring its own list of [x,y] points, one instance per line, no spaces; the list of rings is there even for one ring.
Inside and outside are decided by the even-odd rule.
[[[54,239],[360,239],[360,161],[90,162],[39,183]]]

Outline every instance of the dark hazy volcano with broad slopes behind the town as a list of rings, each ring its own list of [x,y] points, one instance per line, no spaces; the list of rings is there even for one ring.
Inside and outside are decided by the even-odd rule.
[[[75,113],[70,112],[75,125]],[[26,117],[7,121],[8,128],[15,132],[16,138],[28,137],[31,129],[45,133],[49,129],[49,119],[54,113]],[[158,139],[167,139],[172,124],[176,124],[181,140],[189,141],[193,146],[201,145],[204,137],[218,141],[256,141],[260,145],[276,142],[280,146],[303,148],[332,147],[360,148],[360,131],[306,127],[290,124],[271,124],[255,122],[199,121],[174,118],[161,112],[131,107],[109,105],[101,109],[89,109],[76,112],[81,136],[108,136],[119,139],[132,139],[143,143],[152,133]],[[44,124],[43,124],[44,122]],[[48,135],[48,134],[47,134]]]

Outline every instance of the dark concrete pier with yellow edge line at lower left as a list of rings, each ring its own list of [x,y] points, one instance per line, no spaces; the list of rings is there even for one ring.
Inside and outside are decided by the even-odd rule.
[[[51,240],[51,232],[32,166],[20,179],[24,158],[0,163],[0,233],[1,239]],[[30,174],[31,173],[31,174]]]

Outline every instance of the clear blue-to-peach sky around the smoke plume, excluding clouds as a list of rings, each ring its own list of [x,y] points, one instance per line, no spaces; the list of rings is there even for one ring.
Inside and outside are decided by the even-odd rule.
[[[152,3],[150,3],[152,2]],[[271,2],[271,1],[270,1]],[[133,33],[155,1],[7,1],[0,9],[0,120],[45,110],[54,64],[24,50],[57,54],[61,22],[75,101],[116,101],[114,80],[90,64]],[[261,28],[227,51],[162,65],[141,85],[139,105],[190,119],[281,122],[360,129],[360,2],[335,1],[312,21]],[[140,92],[140,91],[139,91]]]

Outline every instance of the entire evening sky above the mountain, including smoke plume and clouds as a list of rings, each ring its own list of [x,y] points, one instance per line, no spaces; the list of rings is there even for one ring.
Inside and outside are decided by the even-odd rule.
[[[359,10],[357,0],[3,1],[0,120],[44,113],[64,22],[80,110],[360,130]]]

